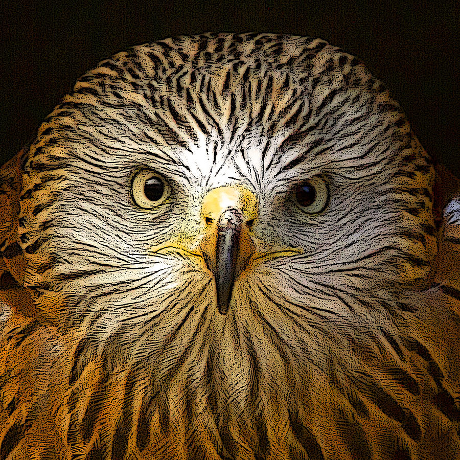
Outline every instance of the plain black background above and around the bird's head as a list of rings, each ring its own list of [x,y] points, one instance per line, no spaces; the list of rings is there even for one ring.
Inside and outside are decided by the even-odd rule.
[[[99,2],[2,4],[0,164],[73,86],[132,45],[206,31],[317,36],[357,55],[390,89],[425,149],[460,175],[460,3]]]

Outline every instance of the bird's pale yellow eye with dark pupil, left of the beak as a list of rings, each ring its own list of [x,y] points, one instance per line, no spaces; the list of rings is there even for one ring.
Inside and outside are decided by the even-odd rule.
[[[168,187],[159,174],[152,171],[141,171],[132,179],[131,194],[138,206],[152,209],[165,201]]]

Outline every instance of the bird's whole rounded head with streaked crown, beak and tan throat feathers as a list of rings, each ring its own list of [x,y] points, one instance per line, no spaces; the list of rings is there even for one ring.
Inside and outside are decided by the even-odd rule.
[[[37,314],[83,331],[71,385],[99,360],[108,380],[129,371],[162,439],[169,417],[171,439],[208,426],[256,451],[268,430],[284,452],[277,420],[312,430],[331,399],[357,405],[356,369],[379,385],[400,293],[435,256],[433,172],[355,58],[242,37],[142,45],[85,74],[29,150],[18,238]]]

